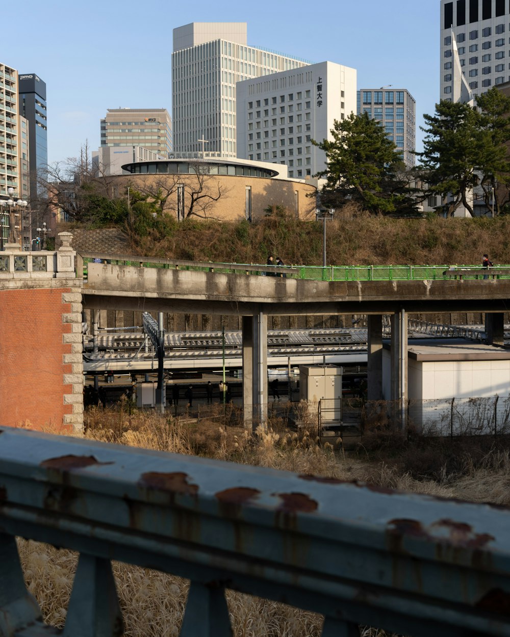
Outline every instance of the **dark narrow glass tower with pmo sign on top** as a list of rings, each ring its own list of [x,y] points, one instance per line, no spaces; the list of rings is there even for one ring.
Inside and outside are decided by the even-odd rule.
[[[27,121],[26,131],[30,145],[22,131],[20,159],[29,162],[29,193],[22,192],[23,199],[35,201],[45,192],[38,187],[38,175],[45,177],[48,165],[48,118],[46,83],[35,73],[18,76],[18,113]],[[39,192],[38,192],[39,191]]]

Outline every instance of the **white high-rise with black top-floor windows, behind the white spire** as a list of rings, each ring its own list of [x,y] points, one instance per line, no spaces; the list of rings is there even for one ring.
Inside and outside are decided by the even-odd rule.
[[[474,95],[510,80],[509,15],[507,0],[441,0],[441,99],[453,99],[455,88],[452,31]]]

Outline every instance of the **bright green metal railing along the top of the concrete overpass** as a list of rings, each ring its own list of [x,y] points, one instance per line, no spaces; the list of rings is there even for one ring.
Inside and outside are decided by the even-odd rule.
[[[295,266],[275,268],[265,264],[212,263],[205,261],[175,261],[150,257],[110,258],[105,255],[82,255],[84,275],[87,276],[87,264],[101,259],[101,262],[136,268],[178,269],[193,272],[215,272],[219,274],[280,275],[287,278],[309,281],[430,281],[451,278],[454,273],[463,279],[481,278],[487,270],[477,265],[417,265],[417,266]],[[499,265],[489,270],[497,272],[497,278],[510,278],[510,265]]]

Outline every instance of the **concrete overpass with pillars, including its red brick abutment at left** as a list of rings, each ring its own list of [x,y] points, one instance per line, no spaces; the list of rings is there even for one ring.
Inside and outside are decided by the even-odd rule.
[[[147,257],[129,255],[102,255],[110,262],[94,263],[93,255],[72,250],[69,233],[60,238],[57,252],[21,253],[8,246],[0,255],[1,424],[82,427],[84,309],[242,317],[244,403],[250,405],[267,402],[271,315],[368,315],[369,399],[382,397],[384,314],[391,315],[392,327],[391,399],[406,396],[408,314],[483,312],[488,341],[503,344],[510,278],[455,280],[442,278],[444,266],[404,266],[431,278],[323,281],[295,278],[303,268],[272,268],[284,277],[259,276],[266,266],[152,257],[147,263]],[[312,268],[319,278],[329,269]],[[361,269],[373,278],[374,268]]]

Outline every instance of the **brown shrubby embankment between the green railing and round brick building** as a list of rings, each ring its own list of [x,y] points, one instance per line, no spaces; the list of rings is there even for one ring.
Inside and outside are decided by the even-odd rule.
[[[510,263],[510,216],[495,218],[388,218],[362,213],[326,222],[327,262],[347,264],[479,264],[488,253]],[[270,215],[254,223],[155,219],[130,227],[136,254],[166,259],[265,263],[269,253],[286,264],[321,265],[322,222]]]

